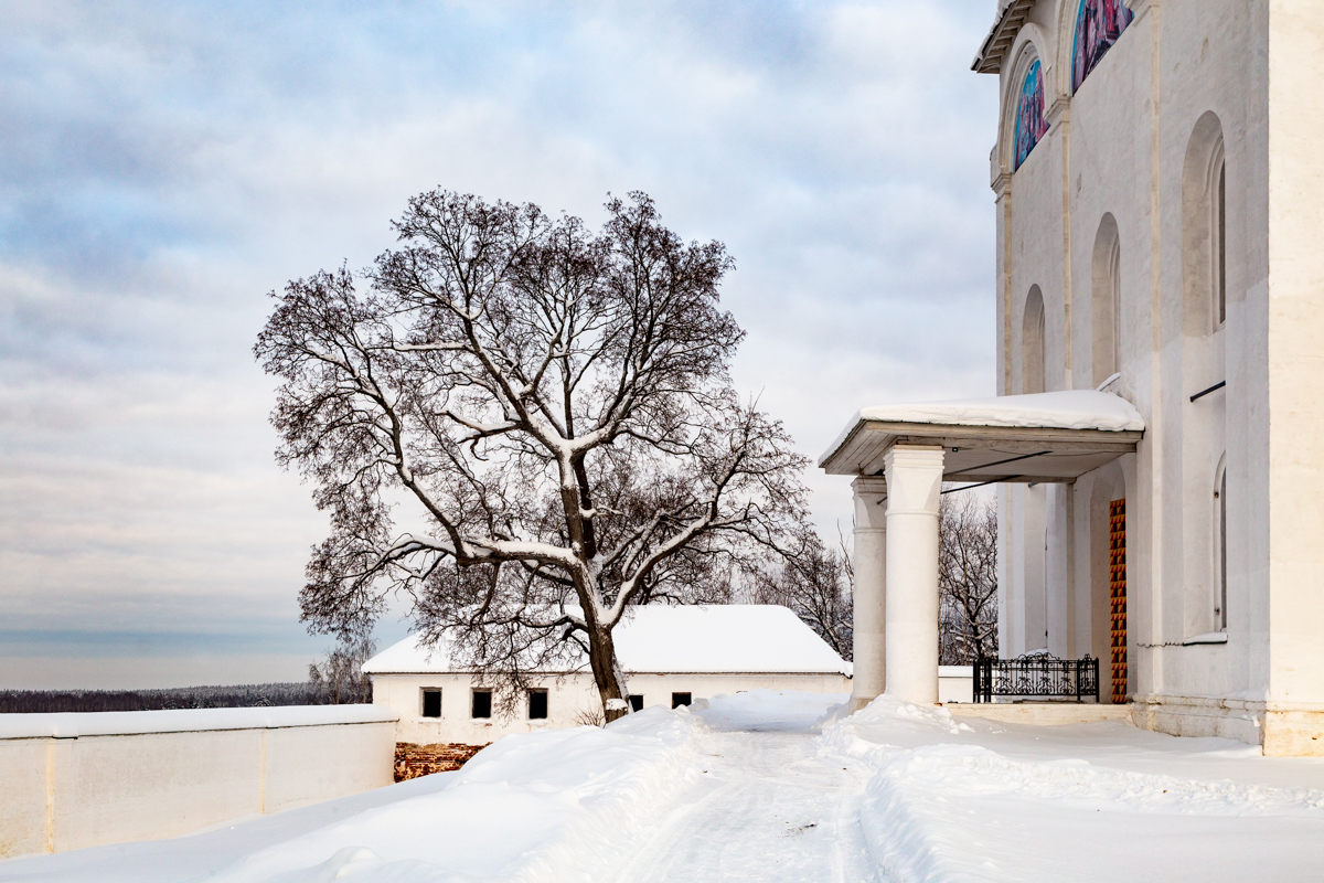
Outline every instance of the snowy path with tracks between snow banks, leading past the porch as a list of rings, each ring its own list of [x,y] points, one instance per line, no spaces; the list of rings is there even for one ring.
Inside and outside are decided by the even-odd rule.
[[[859,802],[869,770],[809,732],[711,732],[694,784],[604,883],[874,880]]]

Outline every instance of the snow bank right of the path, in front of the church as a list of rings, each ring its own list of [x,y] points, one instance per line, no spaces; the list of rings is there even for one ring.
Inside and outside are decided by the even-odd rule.
[[[1188,769],[1217,776],[1227,760],[1245,757],[1221,740],[1173,740],[1120,724],[1054,729],[1091,728],[1129,740],[1136,755],[1155,753],[1147,745],[1160,740],[1168,769],[1185,755]],[[1324,867],[1324,790],[1103,767],[1061,751],[1070,744],[1041,728],[970,727],[943,708],[882,696],[828,725],[822,751],[873,765],[861,825],[887,879],[1239,880],[1258,879],[1266,862],[1275,879],[1309,879]],[[1125,745],[1115,741],[1106,760],[1121,756],[1117,748]]]

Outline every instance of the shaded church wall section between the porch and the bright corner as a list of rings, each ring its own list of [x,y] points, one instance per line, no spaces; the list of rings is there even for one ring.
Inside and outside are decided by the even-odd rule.
[[[1160,195],[1161,195],[1161,388],[1162,447],[1161,627],[1153,655],[1162,678],[1153,692],[1180,696],[1247,695],[1255,684],[1253,657],[1266,649],[1259,627],[1267,586],[1250,579],[1243,531],[1263,523],[1264,463],[1262,446],[1251,443],[1258,422],[1247,410],[1262,393],[1245,368],[1255,335],[1245,291],[1262,275],[1255,244],[1267,238],[1254,222],[1254,169],[1264,163],[1254,136],[1256,30],[1243,3],[1164,4],[1161,19]],[[1210,314],[1192,308],[1193,297],[1207,297],[1209,279],[1193,279],[1210,256],[1197,254],[1189,229],[1192,204],[1184,176],[1202,162],[1200,138],[1210,114],[1222,132],[1227,175],[1227,319],[1211,332]],[[1202,168],[1196,168],[1202,172]],[[1188,188],[1189,189],[1189,188]],[[1184,238],[1185,236],[1185,238]],[[1201,236],[1207,242],[1207,230]],[[1205,261],[1206,263],[1201,263]],[[1205,287],[1201,287],[1205,286]],[[1193,287],[1196,289],[1193,291]],[[1207,304],[1206,304],[1207,306]],[[1230,371],[1231,369],[1231,371]],[[1221,380],[1222,391],[1196,402],[1189,396]],[[1217,510],[1219,459],[1229,463],[1229,602],[1227,643],[1188,645],[1221,629],[1215,606]],[[1262,682],[1260,682],[1262,683]]]

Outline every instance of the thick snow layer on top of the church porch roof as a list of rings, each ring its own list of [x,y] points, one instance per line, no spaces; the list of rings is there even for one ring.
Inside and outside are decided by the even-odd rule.
[[[1111,392],[1094,389],[874,405],[862,408],[850,418],[837,440],[818,458],[818,465],[826,465],[857,428],[870,421],[925,426],[1002,426],[1115,433],[1144,432],[1145,428],[1144,418],[1129,401]]]

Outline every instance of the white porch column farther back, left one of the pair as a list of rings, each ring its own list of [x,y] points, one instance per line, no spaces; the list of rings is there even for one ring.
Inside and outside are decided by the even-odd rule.
[[[887,482],[861,475],[855,491],[854,576],[855,657],[851,710],[874,700],[887,686]]]

